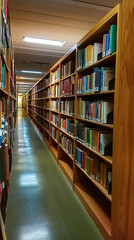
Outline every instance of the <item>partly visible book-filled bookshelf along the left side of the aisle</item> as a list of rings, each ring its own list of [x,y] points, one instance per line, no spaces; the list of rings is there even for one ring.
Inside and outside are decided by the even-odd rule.
[[[0,239],[5,219],[16,122],[16,78],[7,0],[0,1]]]

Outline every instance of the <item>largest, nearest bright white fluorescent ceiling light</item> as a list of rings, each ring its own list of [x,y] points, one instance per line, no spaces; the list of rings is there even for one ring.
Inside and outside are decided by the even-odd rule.
[[[39,43],[39,44],[47,44],[53,46],[62,47],[65,41],[57,41],[57,40],[48,40],[42,38],[33,38],[33,37],[23,37],[23,41],[30,42],[30,43]]]

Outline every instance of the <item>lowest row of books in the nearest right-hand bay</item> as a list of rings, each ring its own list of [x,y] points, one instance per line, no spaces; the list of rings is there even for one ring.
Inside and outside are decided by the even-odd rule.
[[[112,168],[104,161],[88,156],[76,147],[75,162],[94,180],[99,182],[108,192],[112,193]]]

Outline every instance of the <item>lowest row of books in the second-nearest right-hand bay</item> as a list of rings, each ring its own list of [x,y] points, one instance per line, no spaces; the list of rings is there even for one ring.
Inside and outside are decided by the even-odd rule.
[[[73,142],[68,139],[63,133],[60,133],[59,143],[71,156],[73,156],[74,146]]]

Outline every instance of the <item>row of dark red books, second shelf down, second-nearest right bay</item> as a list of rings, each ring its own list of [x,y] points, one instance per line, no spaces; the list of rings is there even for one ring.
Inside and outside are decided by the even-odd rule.
[[[60,83],[60,95],[69,96],[74,94],[75,77],[71,76]]]

